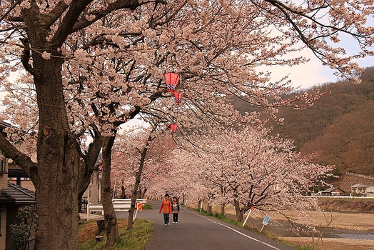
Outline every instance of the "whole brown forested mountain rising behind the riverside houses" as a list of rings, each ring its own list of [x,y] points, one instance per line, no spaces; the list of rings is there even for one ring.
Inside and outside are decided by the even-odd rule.
[[[316,163],[335,164],[345,171],[374,176],[374,67],[365,69],[361,84],[349,81],[315,86],[330,91],[308,109],[279,109],[284,124],[270,122],[273,134],[293,139],[302,153],[319,153]],[[294,95],[294,94],[293,94]],[[235,101],[241,111],[253,111]]]

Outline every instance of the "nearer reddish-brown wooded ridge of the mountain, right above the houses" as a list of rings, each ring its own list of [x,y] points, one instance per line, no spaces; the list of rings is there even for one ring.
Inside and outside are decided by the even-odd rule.
[[[300,151],[321,151],[318,163],[335,164],[336,174],[351,171],[373,175],[374,101],[338,116],[323,134],[303,144]]]

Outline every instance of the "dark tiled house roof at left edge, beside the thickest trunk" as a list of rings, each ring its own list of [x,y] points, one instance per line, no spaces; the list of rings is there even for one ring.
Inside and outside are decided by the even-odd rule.
[[[35,193],[29,189],[8,182],[7,189],[0,190],[0,205],[35,204]]]

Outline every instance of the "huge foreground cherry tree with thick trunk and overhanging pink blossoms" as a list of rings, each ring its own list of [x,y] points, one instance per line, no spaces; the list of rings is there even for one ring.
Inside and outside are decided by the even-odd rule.
[[[256,66],[303,63],[284,55],[305,46],[355,79],[360,69],[352,60],[372,54],[372,11],[371,1],[1,1],[0,79],[24,69],[36,91],[36,120],[13,119],[28,126],[16,128],[34,130],[36,160],[0,135],[4,154],[36,187],[36,245],[76,249],[77,200],[103,141],[113,143],[103,136],[117,126],[141,113],[172,120],[181,133],[206,131],[206,119],[251,119],[227,103],[233,95],[273,115],[277,106],[310,106],[319,93],[282,99],[288,82],[273,82]],[[360,51],[346,54],[342,35]],[[186,98],[178,108],[164,86],[167,71],[181,75]]]

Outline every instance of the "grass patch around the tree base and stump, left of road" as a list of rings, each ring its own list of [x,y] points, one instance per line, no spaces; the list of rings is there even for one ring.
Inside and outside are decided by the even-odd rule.
[[[123,250],[140,250],[144,249],[148,244],[149,238],[153,234],[153,224],[146,219],[136,219],[133,223],[133,229],[126,230],[127,221],[118,219],[118,231],[120,241],[111,246],[110,250],[123,249]],[[81,250],[98,250],[103,249],[106,244],[105,231],[101,233],[103,239],[96,243],[97,226],[96,221],[88,221],[86,224],[80,226],[79,241]]]

